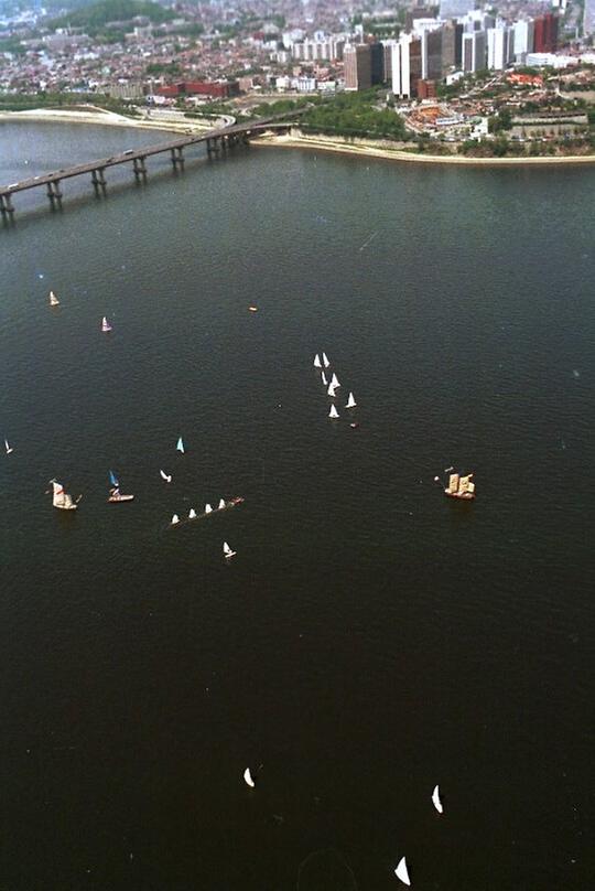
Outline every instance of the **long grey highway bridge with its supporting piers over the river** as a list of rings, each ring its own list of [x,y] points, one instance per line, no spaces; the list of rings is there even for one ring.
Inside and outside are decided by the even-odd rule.
[[[156,146],[148,146],[143,149],[129,149],[128,151],[113,154],[111,158],[99,158],[97,161],[87,161],[84,164],[55,170],[51,173],[42,173],[40,176],[31,176],[18,183],[0,186],[0,214],[4,222],[12,219],[14,205],[12,196],[29,189],[45,187],[52,210],[62,205],[62,181],[73,176],[83,176],[90,173],[90,181],[95,189],[95,194],[105,193],[107,189],[106,170],[118,164],[132,164],[132,170],[137,182],[147,179],[147,159],[155,154],[170,152],[174,170],[184,167],[184,149],[191,146],[206,143],[207,155],[218,155],[240,142],[248,142],[250,137],[260,135],[264,130],[286,129],[291,127],[291,120],[303,115],[305,108],[298,109],[283,115],[271,115],[267,118],[258,118],[245,124],[232,124],[204,133],[184,136],[176,139],[169,139]]]

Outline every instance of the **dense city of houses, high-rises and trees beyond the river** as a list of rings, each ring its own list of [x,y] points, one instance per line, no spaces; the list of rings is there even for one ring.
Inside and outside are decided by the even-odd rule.
[[[595,0],[0,4],[0,106],[232,117],[414,151],[591,153]],[[291,107],[291,106],[286,106]]]

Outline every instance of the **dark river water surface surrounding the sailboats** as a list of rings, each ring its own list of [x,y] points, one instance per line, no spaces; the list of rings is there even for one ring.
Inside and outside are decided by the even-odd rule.
[[[595,171],[149,167],[0,229],[0,888],[589,887]]]

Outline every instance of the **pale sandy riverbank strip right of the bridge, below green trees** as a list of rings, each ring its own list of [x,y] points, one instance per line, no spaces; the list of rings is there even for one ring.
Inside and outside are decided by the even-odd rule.
[[[389,161],[407,161],[422,164],[465,164],[472,167],[519,167],[533,164],[593,164],[595,154],[577,154],[566,157],[543,158],[467,158],[462,154],[422,154],[401,148],[391,148],[387,140],[371,142],[366,140],[347,141],[333,137],[316,135],[305,136],[293,130],[288,136],[263,136],[252,140],[260,147],[281,147],[293,149],[314,149],[337,154],[357,154],[363,158],[381,158]]]

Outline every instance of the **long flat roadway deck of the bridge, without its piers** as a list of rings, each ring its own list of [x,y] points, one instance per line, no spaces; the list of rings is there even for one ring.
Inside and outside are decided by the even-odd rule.
[[[99,158],[97,161],[88,161],[84,164],[75,164],[63,170],[54,170],[51,173],[42,173],[40,176],[31,176],[28,180],[21,180],[18,183],[10,185],[0,185],[0,195],[13,195],[15,192],[24,192],[25,189],[35,189],[46,183],[60,182],[67,180],[71,176],[79,176],[83,173],[93,173],[94,170],[106,170],[117,164],[125,164],[136,159],[150,158],[153,154],[161,154],[162,152],[171,151],[172,149],[183,149],[187,146],[196,146],[207,140],[216,140],[221,137],[241,136],[250,133],[252,130],[262,130],[267,125],[275,125],[280,119],[288,119],[302,115],[305,109],[298,109],[291,114],[284,112],[283,115],[271,115],[268,118],[258,118],[257,120],[247,124],[232,124],[229,127],[220,127],[215,130],[207,130],[204,133],[196,133],[195,136],[184,136],[177,139],[170,139],[166,142],[159,142],[156,146],[148,146],[144,149],[130,149],[119,154],[113,154],[110,158]],[[282,126],[277,124],[277,126]]]

